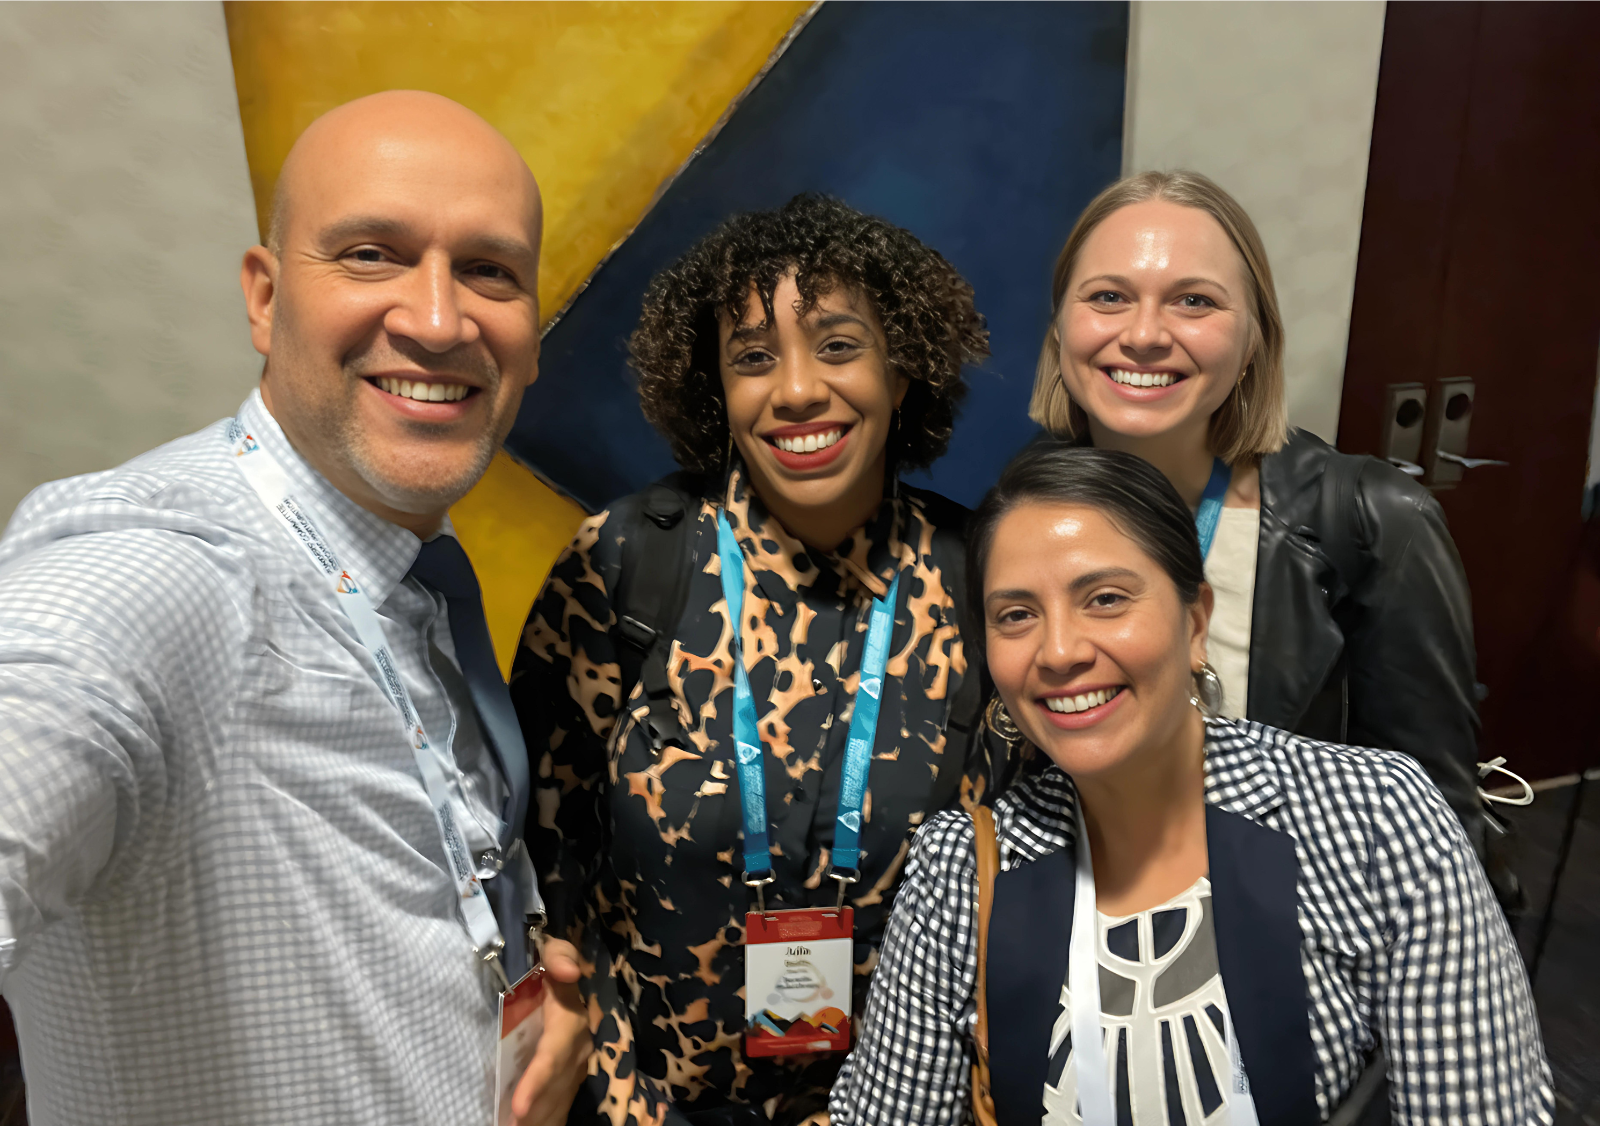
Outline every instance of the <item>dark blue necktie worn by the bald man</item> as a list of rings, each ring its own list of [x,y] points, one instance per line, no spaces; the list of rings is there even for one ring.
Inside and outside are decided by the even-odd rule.
[[[506,777],[509,797],[502,813],[506,832],[501,851],[522,837],[523,817],[528,813],[528,747],[522,741],[522,726],[510,702],[510,691],[494,662],[494,645],[490,627],[483,621],[483,597],[478,592],[478,576],[472,561],[453,536],[435,536],[422,544],[411,574],[422,585],[445,597],[450,609],[450,638],[456,646],[456,661],[472,691],[472,704],[478,712],[478,728],[494,752]],[[506,971],[512,980],[526,971],[523,934],[523,904],[512,880],[490,880],[485,889],[494,904],[494,915],[506,936]]]

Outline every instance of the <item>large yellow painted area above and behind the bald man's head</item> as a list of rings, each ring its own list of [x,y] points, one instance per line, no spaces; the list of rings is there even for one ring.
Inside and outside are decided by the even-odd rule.
[[[379,90],[477,110],[544,189],[546,318],[638,222],[810,0],[230,0],[227,37],[266,229],[290,146]]]

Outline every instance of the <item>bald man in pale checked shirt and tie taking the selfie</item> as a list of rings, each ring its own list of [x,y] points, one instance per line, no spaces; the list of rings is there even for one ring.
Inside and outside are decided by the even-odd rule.
[[[330,112],[245,254],[259,390],[18,509],[0,988],[34,1126],[488,1126],[518,1073],[499,1121],[562,1120],[528,1091],[582,1065],[570,958],[560,1035],[498,1059],[528,760],[446,517],[538,371],[539,234],[475,114]]]

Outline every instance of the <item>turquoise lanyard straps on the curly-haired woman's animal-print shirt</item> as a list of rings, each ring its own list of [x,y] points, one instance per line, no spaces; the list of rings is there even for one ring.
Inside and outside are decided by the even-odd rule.
[[[744,881],[757,888],[773,881],[773,856],[766,830],[766,779],[762,763],[762,733],[750,696],[750,677],[744,670],[744,550],[728,525],[726,513],[717,513],[717,547],[722,555],[722,593],[728,601],[733,629],[733,745],[739,768],[739,803],[744,809]],[[859,878],[861,811],[867,797],[867,769],[878,729],[878,704],[883,696],[883,673],[890,661],[890,635],[894,630],[894,595],[899,576],[888,593],[872,600],[867,645],[861,656],[861,681],[856,709],[850,718],[850,742],[838,781],[838,814],[834,821],[834,851],[829,875],[845,884]]]

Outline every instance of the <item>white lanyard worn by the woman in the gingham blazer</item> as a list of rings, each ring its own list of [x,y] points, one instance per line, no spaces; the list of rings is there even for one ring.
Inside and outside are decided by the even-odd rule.
[[[1072,995],[1072,1065],[1078,1072],[1078,1112],[1083,1126],[1117,1126],[1117,1104],[1110,1097],[1106,1044],[1101,1040],[1099,1008],[1099,920],[1094,907],[1094,862],[1090,859],[1090,832],[1083,824],[1083,798],[1077,800],[1077,875],[1072,899],[1072,939],[1067,947],[1067,992]],[[1256,1100],[1250,1097],[1245,1060],[1238,1052],[1234,1017],[1222,1004],[1222,1035],[1227,1036],[1229,1083],[1227,1121],[1232,1126],[1259,1126]]]

